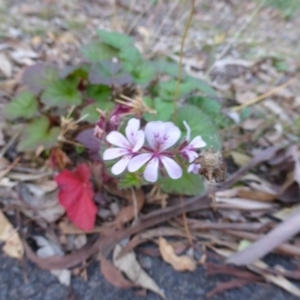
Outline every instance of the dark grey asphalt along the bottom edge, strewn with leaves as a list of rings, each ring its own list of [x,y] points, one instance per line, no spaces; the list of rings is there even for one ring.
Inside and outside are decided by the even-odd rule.
[[[164,290],[167,300],[202,300],[218,283],[230,280],[227,275],[207,276],[200,266],[195,272],[175,272],[157,257],[138,255],[146,272]],[[291,267],[292,263],[277,255],[267,257],[269,264]],[[138,290],[118,289],[100,273],[93,261],[87,269],[88,281],[74,277],[70,287],[61,285],[49,271],[41,270],[29,261],[23,264],[0,254],[0,300],[160,300],[152,292],[140,296]],[[141,292],[141,291],[140,291]],[[297,297],[272,285],[248,284],[216,295],[213,300],[293,300]]]

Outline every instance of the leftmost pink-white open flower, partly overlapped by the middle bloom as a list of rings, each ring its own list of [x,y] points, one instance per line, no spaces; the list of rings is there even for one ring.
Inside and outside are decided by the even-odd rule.
[[[111,169],[114,175],[124,172],[134,154],[143,147],[145,134],[143,130],[139,129],[140,120],[133,118],[128,121],[125,128],[126,137],[118,131],[112,131],[107,135],[106,140],[118,148],[106,149],[103,153],[103,159],[111,160],[122,157]]]

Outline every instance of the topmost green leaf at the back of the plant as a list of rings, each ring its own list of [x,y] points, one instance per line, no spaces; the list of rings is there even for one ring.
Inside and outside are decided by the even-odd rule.
[[[119,51],[100,41],[90,43],[81,48],[82,56],[90,62],[112,59],[117,57]]]

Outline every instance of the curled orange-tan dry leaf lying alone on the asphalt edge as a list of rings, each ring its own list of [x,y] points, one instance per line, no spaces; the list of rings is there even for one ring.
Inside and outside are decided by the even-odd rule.
[[[159,238],[159,251],[163,260],[169,263],[176,271],[194,271],[197,267],[196,261],[191,257],[176,255],[173,247],[162,237]]]

